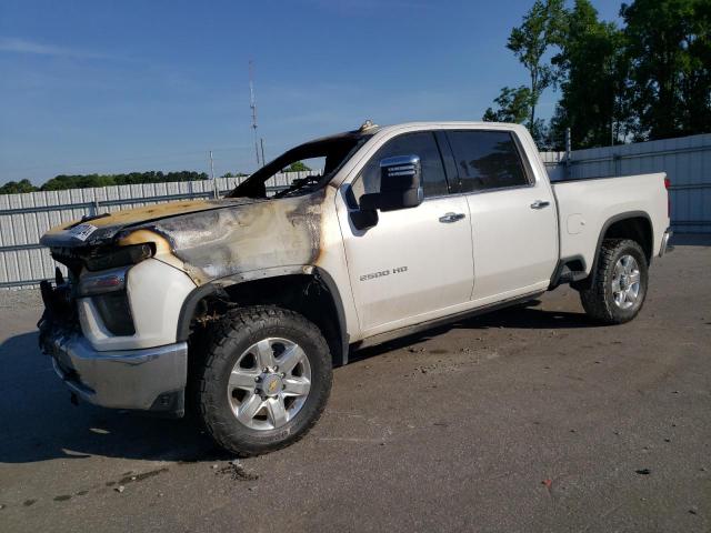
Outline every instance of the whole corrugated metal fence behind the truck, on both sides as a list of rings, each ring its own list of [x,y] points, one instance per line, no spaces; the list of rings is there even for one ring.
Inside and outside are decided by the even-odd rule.
[[[569,161],[564,152],[541,157],[553,181],[667,172],[672,182],[674,230],[711,232],[711,134],[574,150]],[[283,188],[302,175],[306,173],[278,174],[268,185]],[[240,180],[220,178],[216,185],[224,193]],[[53,276],[54,262],[39,245],[42,233],[53,225],[84,214],[212,194],[209,180],[0,194],[0,289],[34,285]]]

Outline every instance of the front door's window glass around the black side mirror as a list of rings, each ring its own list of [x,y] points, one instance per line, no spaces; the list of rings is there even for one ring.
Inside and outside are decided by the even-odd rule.
[[[365,163],[352,190],[360,201],[362,194],[380,190],[380,161],[395,155],[419,155],[422,165],[422,191],[424,197],[440,197],[449,193],[442,157],[430,131],[404,133],[383,144]]]

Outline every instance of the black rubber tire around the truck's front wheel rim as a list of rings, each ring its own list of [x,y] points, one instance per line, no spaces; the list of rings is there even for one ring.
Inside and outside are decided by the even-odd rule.
[[[311,368],[311,388],[303,406],[286,425],[254,430],[237,420],[228,394],[230,373],[242,353],[269,336],[299,344]],[[277,306],[238,309],[208,332],[202,364],[197,369],[197,404],[208,433],[221,447],[240,456],[272,452],[297,442],[321,416],[331,392],[331,354],[321,331],[293,311]]]

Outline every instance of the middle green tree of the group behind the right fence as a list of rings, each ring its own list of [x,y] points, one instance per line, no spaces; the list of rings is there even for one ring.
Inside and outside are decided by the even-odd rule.
[[[561,98],[551,119],[550,137],[562,149],[564,131],[572,145],[608,145],[627,135],[627,71],[622,32],[598,19],[589,0],[575,0],[565,12],[557,37],[557,68]]]

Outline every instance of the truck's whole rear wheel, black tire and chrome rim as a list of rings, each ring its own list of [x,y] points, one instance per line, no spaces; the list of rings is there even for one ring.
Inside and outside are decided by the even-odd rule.
[[[621,324],[638,315],[647,296],[647,258],[629,239],[602,241],[589,288],[580,291],[585,313],[605,324]]]

